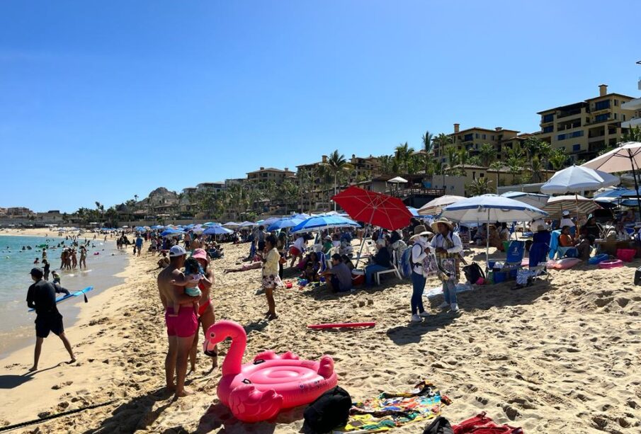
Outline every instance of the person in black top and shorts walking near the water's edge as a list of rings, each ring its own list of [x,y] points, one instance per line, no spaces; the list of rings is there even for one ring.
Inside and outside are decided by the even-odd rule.
[[[60,338],[64,344],[64,348],[69,352],[71,361],[76,361],[72,344],[69,343],[67,336],[64,335],[64,326],[62,325],[62,315],[58,312],[56,307],[56,287],[42,279],[44,273],[41,268],[31,269],[31,278],[33,285],[29,287],[27,292],[27,306],[35,309],[35,350],[33,353],[33,367],[29,372],[38,370],[38,360],[40,359],[40,351],[42,350],[42,341],[53,332]],[[61,287],[61,290],[64,289]],[[63,292],[63,291],[61,291]],[[69,292],[69,291],[67,291]]]

